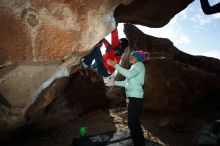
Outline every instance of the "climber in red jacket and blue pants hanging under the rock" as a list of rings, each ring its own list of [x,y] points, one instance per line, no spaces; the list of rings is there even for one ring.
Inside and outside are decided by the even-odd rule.
[[[106,47],[105,54],[102,56],[101,46],[104,43]],[[110,76],[115,69],[107,64],[107,60],[116,60],[117,63],[121,60],[121,55],[124,53],[125,48],[128,46],[126,38],[118,38],[118,30],[115,28],[111,33],[111,44],[106,39],[101,40],[91,51],[90,54],[84,57],[82,63],[84,67],[92,67],[92,62],[95,60],[95,67],[99,74],[103,77]]]

